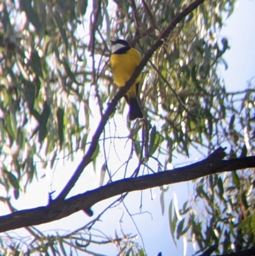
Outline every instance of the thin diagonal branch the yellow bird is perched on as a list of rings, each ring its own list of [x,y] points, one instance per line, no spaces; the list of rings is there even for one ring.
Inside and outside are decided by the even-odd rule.
[[[160,47],[163,44],[164,40],[171,33],[171,31],[174,29],[174,27],[177,26],[177,24],[182,19],[184,19],[184,17],[186,17],[187,14],[191,13],[191,11],[193,11],[195,8],[197,8],[204,1],[205,0],[196,0],[193,3],[189,4],[189,6],[187,6],[187,8],[185,8],[183,11],[181,11],[179,13],[179,15],[177,15],[175,17],[175,19],[173,19],[171,21],[170,25],[168,27],[166,27],[166,29],[163,31],[161,36],[159,36],[159,39],[154,43],[154,45],[152,45],[152,47],[150,47],[150,49],[147,51],[147,53],[143,57],[140,64],[136,67],[135,73],[133,73],[132,77],[128,80],[128,82],[126,82],[125,86],[122,87],[117,92],[117,94],[115,94],[115,96],[113,97],[112,102],[108,105],[108,107],[105,111],[105,114],[103,114],[103,116],[101,117],[101,120],[98,124],[98,128],[96,129],[96,132],[94,133],[94,135],[92,137],[91,146],[89,147],[85,156],[82,158],[82,161],[78,165],[78,167],[75,170],[73,176],[71,177],[71,179],[69,179],[68,183],[66,184],[66,186],[64,187],[62,192],[59,194],[57,199],[55,199],[55,200],[57,200],[57,201],[64,200],[64,198],[68,195],[70,190],[73,188],[73,186],[77,182],[78,177],[80,177],[80,174],[82,174],[85,167],[91,162],[92,154],[94,153],[94,151],[96,149],[99,137],[100,137],[101,133],[103,132],[103,129],[105,128],[105,125],[106,125],[110,115],[115,111],[115,107],[117,105],[117,102],[119,101],[119,99],[122,96],[124,96],[124,94],[128,91],[128,89],[135,82],[136,77],[138,77],[138,75],[142,72],[143,67],[145,66],[147,61],[150,59],[152,54],[154,54],[154,52],[157,50],[157,48]]]

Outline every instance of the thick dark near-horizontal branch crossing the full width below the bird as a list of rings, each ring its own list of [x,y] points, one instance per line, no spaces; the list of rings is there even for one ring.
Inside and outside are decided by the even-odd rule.
[[[87,209],[101,200],[109,199],[125,192],[145,190],[163,186],[164,184],[190,181],[210,174],[255,167],[255,156],[222,160],[224,156],[224,149],[219,147],[204,160],[186,167],[140,177],[120,179],[66,200],[53,201],[48,206],[25,209],[1,216],[0,232],[59,220],[82,209]]]

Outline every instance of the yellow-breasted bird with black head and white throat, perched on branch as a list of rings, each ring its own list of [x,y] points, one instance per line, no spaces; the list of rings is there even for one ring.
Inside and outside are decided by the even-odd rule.
[[[138,50],[132,48],[128,41],[117,39],[110,40],[112,43],[112,54],[110,55],[110,65],[112,67],[113,80],[117,87],[125,86],[126,82],[135,72],[136,66],[141,61],[141,54]],[[128,120],[133,121],[136,118],[143,118],[143,112],[138,103],[138,86],[142,75],[136,77],[135,83],[124,95],[129,105]]]

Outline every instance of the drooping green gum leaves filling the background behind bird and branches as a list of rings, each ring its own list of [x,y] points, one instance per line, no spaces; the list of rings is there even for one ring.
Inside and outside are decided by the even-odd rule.
[[[189,3],[20,0],[0,4],[0,181],[6,191],[0,200],[4,204],[15,210],[11,198],[18,199],[38,179],[41,165],[54,169],[57,160],[73,160],[76,153],[85,153],[95,125],[116,93],[108,63],[109,40],[125,38],[145,54]],[[173,157],[189,156],[191,148],[203,154],[227,143],[232,157],[254,154],[254,85],[251,81],[242,93],[229,93],[217,73],[228,49],[228,40],[219,40],[217,32],[234,3],[201,4],[154,53],[140,85],[147,124],[110,118],[91,163],[94,170],[101,169],[99,186],[137,175],[139,170],[143,170],[140,174],[165,170]],[[126,116],[122,100],[118,106],[117,112]],[[136,170],[129,167],[131,162]],[[189,235],[201,251],[212,243],[220,244],[223,253],[232,252],[230,243],[235,250],[249,248],[254,243],[252,174],[247,170],[196,181],[194,198],[180,210],[185,218],[177,220],[170,207],[173,237]],[[204,215],[194,207],[201,205]],[[238,226],[247,218],[247,225]],[[36,239],[27,245],[27,252],[61,252],[63,243],[81,250],[77,237],[84,237],[87,228],[69,235],[71,242],[60,234],[31,229]],[[89,236],[96,237],[92,232]],[[142,255],[140,246],[127,237],[105,239],[116,245],[120,238],[117,250],[123,255],[129,250]],[[3,248],[24,250],[15,239]]]

